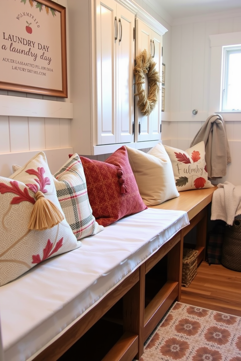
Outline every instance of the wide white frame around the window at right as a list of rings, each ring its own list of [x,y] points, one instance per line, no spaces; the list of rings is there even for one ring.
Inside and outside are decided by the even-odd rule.
[[[240,121],[240,111],[221,110],[223,99],[223,47],[241,44],[241,31],[210,35],[210,93],[209,114],[229,113],[229,120]]]

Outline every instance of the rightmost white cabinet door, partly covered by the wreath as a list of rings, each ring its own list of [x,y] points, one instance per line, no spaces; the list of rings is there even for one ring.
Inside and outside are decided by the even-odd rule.
[[[152,55],[153,60],[156,62],[156,70],[158,70],[159,74],[162,74],[162,36],[157,34],[155,31],[152,31]],[[160,80],[162,77],[160,76]],[[161,125],[161,117],[162,117],[162,83],[159,84],[160,92],[159,92],[159,101],[156,104],[154,110],[152,110],[150,114],[150,139],[151,140],[159,140],[160,139],[160,125]]]

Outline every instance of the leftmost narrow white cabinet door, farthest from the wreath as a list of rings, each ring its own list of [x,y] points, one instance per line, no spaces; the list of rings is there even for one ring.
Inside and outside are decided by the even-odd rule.
[[[114,0],[96,0],[96,127],[98,145],[116,143],[116,7],[117,3]]]

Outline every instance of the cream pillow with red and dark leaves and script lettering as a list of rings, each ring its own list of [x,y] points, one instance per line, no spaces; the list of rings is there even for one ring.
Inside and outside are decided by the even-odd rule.
[[[204,142],[200,142],[186,151],[168,145],[164,145],[164,148],[172,162],[178,192],[214,187],[207,178]]]

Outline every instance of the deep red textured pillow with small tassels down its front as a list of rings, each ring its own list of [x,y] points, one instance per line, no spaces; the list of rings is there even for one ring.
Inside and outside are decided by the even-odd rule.
[[[140,196],[124,146],[104,162],[80,158],[92,214],[99,225],[106,227],[124,216],[147,208]]]

